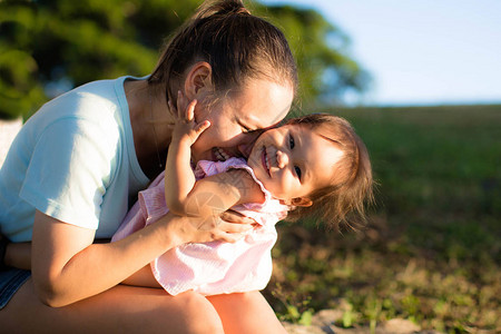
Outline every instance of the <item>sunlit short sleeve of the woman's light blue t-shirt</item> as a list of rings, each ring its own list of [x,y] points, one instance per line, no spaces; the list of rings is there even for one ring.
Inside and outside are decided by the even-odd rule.
[[[116,158],[106,129],[66,118],[48,126],[36,143],[20,196],[48,216],[97,229]]]

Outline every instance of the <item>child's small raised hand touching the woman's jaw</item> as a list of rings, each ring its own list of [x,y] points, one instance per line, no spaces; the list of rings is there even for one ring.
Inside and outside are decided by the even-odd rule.
[[[180,90],[177,94],[177,108],[174,107],[170,100],[168,101],[168,107],[175,118],[173,143],[186,141],[186,145],[191,146],[202,132],[210,126],[208,120],[204,120],[200,124],[195,122],[196,105],[197,100],[193,100],[188,104],[188,100]]]

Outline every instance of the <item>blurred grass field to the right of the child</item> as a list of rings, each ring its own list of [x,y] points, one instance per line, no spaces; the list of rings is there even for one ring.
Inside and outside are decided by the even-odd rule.
[[[501,106],[322,110],[350,120],[379,183],[367,227],[279,226],[265,295],[285,320],[406,318],[446,333],[501,332]]]

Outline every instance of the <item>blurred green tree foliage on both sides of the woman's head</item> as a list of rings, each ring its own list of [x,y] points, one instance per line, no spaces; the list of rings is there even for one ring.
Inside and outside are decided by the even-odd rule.
[[[0,118],[28,117],[85,82],[148,75],[164,38],[200,0],[0,0]],[[301,97],[363,89],[364,72],[325,38],[344,36],[320,13],[254,3],[288,37]],[[325,80],[334,73],[336,80]]]

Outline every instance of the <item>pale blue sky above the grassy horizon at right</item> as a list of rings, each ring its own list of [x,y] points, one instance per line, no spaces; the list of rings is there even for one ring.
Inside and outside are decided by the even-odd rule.
[[[314,8],[373,76],[350,104],[501,102],[501,0],[263,0]]]

